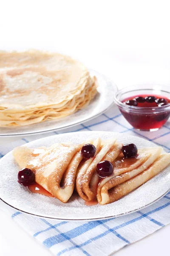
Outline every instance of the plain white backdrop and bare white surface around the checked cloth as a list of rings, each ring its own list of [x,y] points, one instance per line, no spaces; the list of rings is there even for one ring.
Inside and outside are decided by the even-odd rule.
[[[170,84],[167,0],[0,0],[0,49],[44,49],[78,58],[118,88]],[[170,225],[115,256],[169,255]],[[105,245],[104,245],[105,246]],[[0,255],[49,256],[0,203]]]

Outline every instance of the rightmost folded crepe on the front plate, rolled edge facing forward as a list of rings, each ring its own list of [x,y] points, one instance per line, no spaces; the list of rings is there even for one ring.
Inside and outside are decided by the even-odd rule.
[[[116,176],[99,184],[97,200],[99,204],[109,204],[141,186],[170,163],[170,154],[161,154],[162,148],[150,148],[150,157],[137,169]]]

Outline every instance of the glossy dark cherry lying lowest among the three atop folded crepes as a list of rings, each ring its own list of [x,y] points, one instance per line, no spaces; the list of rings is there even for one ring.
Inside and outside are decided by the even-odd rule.
[[[97,164],[96,172],[101,178],[108,177],[113,174],[113,165],[107,160],[99,162]]]

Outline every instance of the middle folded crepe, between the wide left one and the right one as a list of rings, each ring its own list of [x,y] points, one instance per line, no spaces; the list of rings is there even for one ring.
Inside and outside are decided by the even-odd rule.
[[[92,201],[96,198],[97,186],[100,180],[96,173],[97,164],[104,160],[113,162],[120,154],[122,144],[115,142],[115,139],[104,142],[97,139],[94,142],[96,147],[95,156],[80,164],[77,171],[76,189],[79,196],[85,201]]]

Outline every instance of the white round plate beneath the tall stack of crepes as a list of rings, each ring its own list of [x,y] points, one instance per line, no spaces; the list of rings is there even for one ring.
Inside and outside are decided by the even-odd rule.
[[[114,94],[117,91],[116,84],[114,84],[113,81],[108,79],[106,76],[103,76],[94,70],[89,71],[91,76],[97,77],[99,83],[97,90],[99,93],[90,102],[88,107],[58,120],[40,122],[26,126],[0,127],[0,136],[19,136],[45,133],[54,130],[57,131],[91,120],[105,112],[113,104]]]

